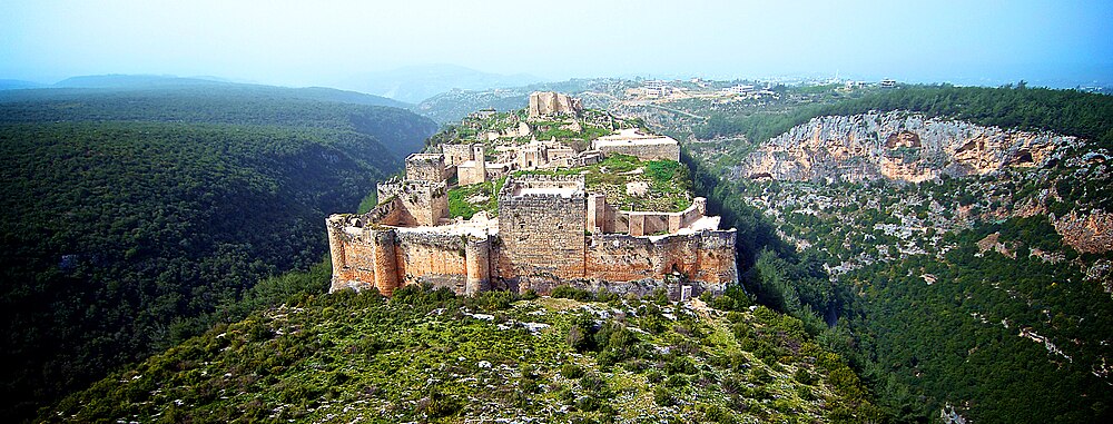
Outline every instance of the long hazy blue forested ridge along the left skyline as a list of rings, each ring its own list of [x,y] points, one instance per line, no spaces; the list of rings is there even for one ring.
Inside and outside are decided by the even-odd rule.
[[[149,79],[136,81],[142,80]],[[387,141],[384,147],[396,157],[420,150],[429,135],[425,132],[435,130],[434,122],[400,108],[407,105],[377,96],[318,87],[177,80],[188,82],[0,91],[0,122],[114,120],[352,128]],[[367,119],[367,114],[383,119]]]

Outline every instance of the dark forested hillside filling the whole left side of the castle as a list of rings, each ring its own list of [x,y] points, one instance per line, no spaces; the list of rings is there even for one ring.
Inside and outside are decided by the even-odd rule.
[[[238,319],[246,289],[318,263],[324,217],[435,130],[258,90],[0,95],[4,416]]]

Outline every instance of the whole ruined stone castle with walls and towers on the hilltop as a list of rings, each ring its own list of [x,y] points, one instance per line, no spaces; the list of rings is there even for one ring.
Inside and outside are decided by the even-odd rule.
[[[553,109],[564,110],[544,111]],[[678,159],[678,144],[668,139],[676,145],[672,156],[664,139],[604,142],[621,145],[617,152]],[[326,219],[331,290],[375,287],[390,296],[400,287],[423,284],[464,295],[548,295],[569,285],[634,295],[664,289],[671,298],[684,299],[722,293],[737,282],[736,231],[719,229],[719,217],[706,216],[706,200],[699,197],[679,213],[621,210],[604,195],[588,193],[580,175],[510,175],[498,193],[498,217],[449,218],[454,174],[466,185],[553,162],[582,166],[605,155],[535,144],[515,150],[508,162],[486,161],[481,145],[445,145],[442,154],[411,155],[405,179],[378,185],[377,207]]]

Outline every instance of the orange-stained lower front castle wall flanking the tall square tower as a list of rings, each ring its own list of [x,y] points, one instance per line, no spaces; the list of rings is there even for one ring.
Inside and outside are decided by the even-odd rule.
[[[354,227],[354,219],[334,215],[326,220],[332,292],[375,287],[390,296],[400,287],[423,284],[466,295],[489,289],[532,289],[548,295],[555,286],[571,285],[639,296],[663,288],[679,299],[684,286],[692,296],[705,290],[720,294],[738,279],[732,229],[664,237],[593,235],[582,252],[580,268],[571,266],[577,277],[553,278],[552,274],[560,273],[552,267],[560,263],[556,257],[511,255],[504,241]],[[513,274],[523,269],[534,274]]]

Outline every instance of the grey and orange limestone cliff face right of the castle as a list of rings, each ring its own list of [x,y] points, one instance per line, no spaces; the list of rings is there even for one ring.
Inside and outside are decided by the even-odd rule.
[[[1073,137],[1003,130],[902,111],[811,119],[767,141],[741,164],[742,177],[811,181],[982,175],[1043,167]]]

